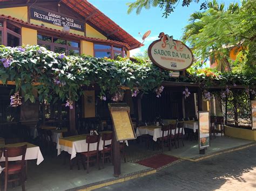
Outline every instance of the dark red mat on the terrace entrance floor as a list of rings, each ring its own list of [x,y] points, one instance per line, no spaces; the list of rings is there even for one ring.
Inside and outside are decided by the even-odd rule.
[[[150,168],[160,168],[178,160],[176,157],[172,157],[166,154],[158,154],[148,159],[140,160],[137,163]]]

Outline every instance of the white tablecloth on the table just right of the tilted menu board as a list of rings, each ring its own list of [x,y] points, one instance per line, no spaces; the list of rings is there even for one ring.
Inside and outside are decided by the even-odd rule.
[[[176,131],[178,131],[178,128],[176,129]],[[168,131],[165,131],[164,136],[166,136],[167,133],[168,133]],[[175,129],[172,129],[171,133],[172,133],[172,135],[174,135],[175,134]],[[151,136],[153,136],[153,140],[155,142],[157,141],[157,138],[162,137],[162,134],[163,134],[163,132],[161,131],[160,126],[159,126],[159,128],[154,128],[154,129],[151,129],[150,126],[149,126],[149,128],[146,128],[145,126],[143,126],[143,127],[138,127],[137,130],[136,130],[136,135],[137,136],[151,135]],[[183,135],[184,134],[185,134],[185,131],[183,130]]]

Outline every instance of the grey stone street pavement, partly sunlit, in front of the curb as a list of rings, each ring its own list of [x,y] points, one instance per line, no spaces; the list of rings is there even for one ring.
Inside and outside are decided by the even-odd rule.
[[[182,161],[156,174],[97,190],[256,191],[256,146],[198,162]]]

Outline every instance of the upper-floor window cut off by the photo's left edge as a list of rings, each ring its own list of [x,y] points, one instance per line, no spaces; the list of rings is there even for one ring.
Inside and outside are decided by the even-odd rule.
[[[5,20],[0,21],[0,44],[11,47],[21,45],[21,27]]]

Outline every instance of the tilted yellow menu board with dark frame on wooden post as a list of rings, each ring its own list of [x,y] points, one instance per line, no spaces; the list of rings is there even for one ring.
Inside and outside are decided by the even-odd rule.
[[[136,139],[129,106],[126,103],[109,103],[109,110],[117,141]]]

